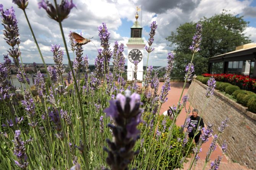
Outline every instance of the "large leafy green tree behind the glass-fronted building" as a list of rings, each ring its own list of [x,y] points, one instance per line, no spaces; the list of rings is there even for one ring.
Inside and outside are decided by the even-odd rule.
[[[215,14],[210,18],[203,17],[200,21],[203,25],[201,51],[198,52],[198,65],[204,72],[198,72],[198,74],[205,73],[207,71],[207,58],[224,54],[230,51],[234,51],[236,46],[251,43],[249,37],[246,37],[243,33],[249,22],[243,20],[243,16],[235,16],[228,14],[227,11],[223,11],[221,14]],[[192,42],[192,37],[195,32],[196,23],[186,22],[177,28],[177,32],[172,32],[166,39],[171,42],[170,46],[175,44],[175,69],[176,72],[184,70],[184,60],[189,59],[187,54],[191,51],[188,49]],[[180,57],[183,57],[180,59]],[[203,59],[205,58],[205,59]],[[191,59],[191,57],[190,57]],[[206,62],[206,63],[205,63]],[[204,67],[204,68],[202,68]],[[184,71],[183,71],[184,73]]]

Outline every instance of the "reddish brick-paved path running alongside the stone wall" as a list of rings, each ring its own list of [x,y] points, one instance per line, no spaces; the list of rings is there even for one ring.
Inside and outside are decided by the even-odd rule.
[[[162,82],[160,82],[159,84],[159,90],[161,89],[162,87]],[[185,90],[183,92],[183,95],[185,95],[188,91],[188,87],[189,87],[189,84],[187,84],[187,86],[185,87]],[[171,83],[171,90],[169,91],[169,94],[168,94],[168,101],[165,102],[162,107],[161,107],[161,110],[160,110],[160,114],[162,114],[165,110],[169,109],[169,106],[172,106],[173,104],[174,105],[177,105],[178,103],[178,100],[180,98],[180,94],[181,94],[181,91],[182,91],[182,88],[183,88],[183,83],[177,83],[177,82],[172,82]],[[187,107],[188,107],[189,103],[187,103]],[[192,107],[191,107],[191,110],[192,110]],[[200,115],[200,111],[199,111],[199,115]],[[180,115],[178,116],[178,119],[177,119],[177,126],[181,126],[183,125],[184,121],[186,119],[186,112],[185,112],[185,109],[183,109],[180,113]],[[206,122],[204,122],[206,123]],[[224,130],[224,133],[225,133],[225,130]],[[208,151],[208,148],[212,142],[212,137],[202,145],[202,152],[199,153],[199,156],[200,156],[200,159],[198,161],[198,165],[196,166],[195,170],[197,169],[203,169],[203,165],[204,165],[204,160],[206,158],[206,153]],[[211,154],[211,161],[214,161],[215,158],[218,157],[218,155],[222,155],[222,151],[221,151],[221,148],[220,146],[217,146],[217,148],[215,149],[214,152],[212,152]],[[210,161],[210,162],[211,162]],[[210,163],[209,163],[210,164]],[[189,163],[188,164],[185,164],[184,165],[184,169],[187,169],[189,166]],[[206,170],[209,170],[210,166],[207,165],[206,167]],[[220,164],[220,170],[249,170],[248,168],[246,168],[245,166],[241,166],[237,163],[232,163],[230,161],[230,159],[228,159],[226,156],[223,157],[222,161],[221,161],[221,164]]]

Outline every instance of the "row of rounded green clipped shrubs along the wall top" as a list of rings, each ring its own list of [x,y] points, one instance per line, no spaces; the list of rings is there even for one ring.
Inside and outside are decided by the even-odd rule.
[[[197,76],[196,79],[203,84],[207,84],[209,77]],[[248,107],[249,111],[256,113],[256,94],[254,92],[241,90],[238,86],[219,81],[216,81],[215,89],[232,95],[234,99],[237,99],[237,103]]]

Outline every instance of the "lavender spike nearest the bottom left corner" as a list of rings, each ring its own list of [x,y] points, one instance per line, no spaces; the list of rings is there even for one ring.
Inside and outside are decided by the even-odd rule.
[[[28,157],[26,155],[25,143],[19,137],[20,135],[21,135],[21,131],[15,130],[15,136],[14,136],[14,140],[13,140],[13,144],[15,145],[14,154],[18,158],[18,161],[15,160],[15,163],[20,168],[27,168],[28,162],[26,162],[26,160]]]

